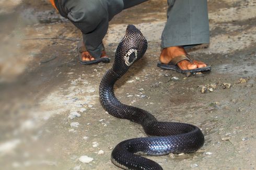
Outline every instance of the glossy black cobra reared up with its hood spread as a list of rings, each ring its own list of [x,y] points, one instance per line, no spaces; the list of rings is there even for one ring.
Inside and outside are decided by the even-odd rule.
[[[125,140],[113,149],[111,161],[123,169],[162,169],[156,162],[139,155],[191,153],[204,144],[204,135],[198,127],[184,123],[158,122],[147,111],[122,104],[115,98],[114,83],[146,50],[147,40],[141,31],[129,25],[115,52],[113,66],[103,76],[99,88],[101,104],[109,114],[141,124],[147,135],[154,136]]]

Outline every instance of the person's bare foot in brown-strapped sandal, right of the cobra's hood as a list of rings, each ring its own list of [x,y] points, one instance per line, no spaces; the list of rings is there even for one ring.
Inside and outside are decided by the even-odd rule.
[[[172,46],[164,48],[162,49],[162,52],[160,54],[160,62],[162,64],[168,64],[172,58],[180,55],[187,55],[182,46]],[[182,70],[190,70],[207,66],[204,62],[200,62],[197,60],[193,60],[192,63],[189,60],[182,60],[177,63],[177,65]]]

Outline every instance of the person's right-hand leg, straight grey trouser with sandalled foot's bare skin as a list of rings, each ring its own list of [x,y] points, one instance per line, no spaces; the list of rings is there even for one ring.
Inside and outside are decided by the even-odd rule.
[[[167,23],[161,37],[160,62],[168,64],[172,58],[187,55],[184,48],[209,43],[209,25],[206,0],[168,0]],[[206,67],[200,61],[181,60],[183,69]]]

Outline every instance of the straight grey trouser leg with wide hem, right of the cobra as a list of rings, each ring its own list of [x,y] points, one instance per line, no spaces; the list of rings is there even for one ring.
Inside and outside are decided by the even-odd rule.
[[[168,0],[161,47],[209,43],[207,0]]]

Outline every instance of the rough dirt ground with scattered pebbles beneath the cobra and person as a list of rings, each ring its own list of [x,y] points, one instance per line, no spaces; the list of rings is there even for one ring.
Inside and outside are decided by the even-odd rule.
[[[110,161],[113,147],[145,133],[106,113],[98,86],[127,24],[142,31],[148,50],[117,82],[117,98],[205,135],[196,153],[147,157],[164,169],[255,169],[255,0],[208,1],[211,43],[190,54],[212,71],[190,77],[156,66],[164,0],[115,16],[104,39],[111,62],[88,66],[78,62],[79,30],[47,0],[0,6],[0,169],[119,169]]]

